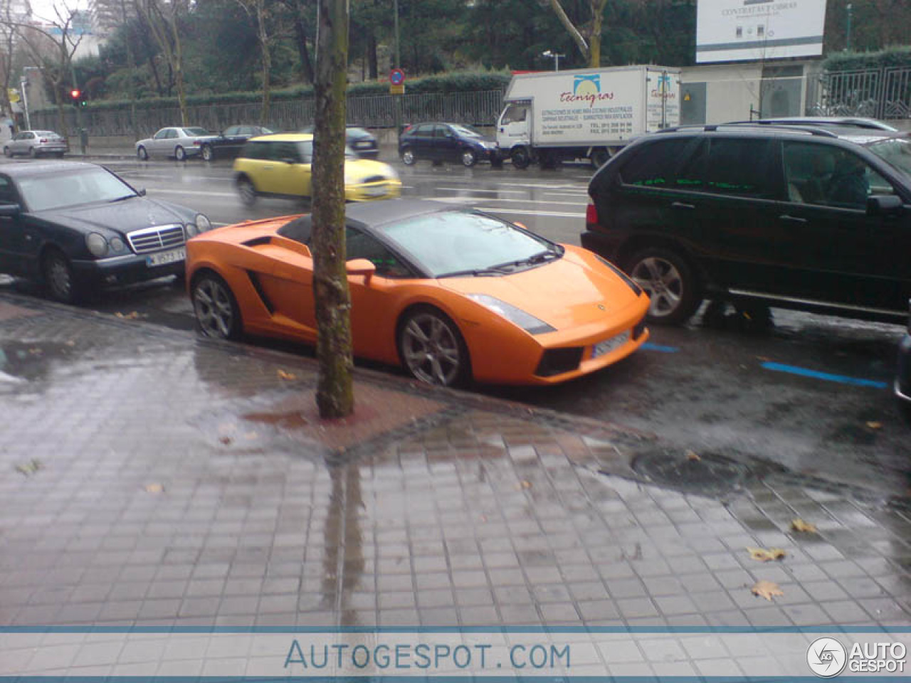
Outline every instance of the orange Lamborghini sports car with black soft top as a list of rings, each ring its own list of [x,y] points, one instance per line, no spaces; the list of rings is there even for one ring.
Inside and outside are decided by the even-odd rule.
[[[314,343],[309,215],[248,221],[187,243],[200,330]],[[649,297],[608,261],[520,225],[423,199],[346,207],[354,355],[416,379],[550,384],[649,337]]]

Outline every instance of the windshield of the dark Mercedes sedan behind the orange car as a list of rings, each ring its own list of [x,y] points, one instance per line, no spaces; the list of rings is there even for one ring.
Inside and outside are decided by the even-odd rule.
[[[29,211],[138,196],[123,180],[104,168],[42,173],[19,180],[19,189]]]

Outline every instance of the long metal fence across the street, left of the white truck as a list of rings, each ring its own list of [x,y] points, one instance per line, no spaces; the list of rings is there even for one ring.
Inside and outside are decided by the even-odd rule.
[[[404,123],[445,120],[476,126],[492,126],[503,108],[503,91],[349,97],[348,123],[371,128],[394,127],[396,106],[402,107]],[[218,131],[238,123],[259,122],[261,108],[259,102],[199,105],[188,107],[187,116],[191,126]],[[274,130],[297,130],[312,124],[313,111],[312,98],[272,102],[266,125]],[[129,109],[83,109],[80,114],[82,127],[87,128],[88,135],[93,138],[133,135],[134,126],[130,120]],[[67,129],[70,132],[76,130],[76,111],[73,107],[66,107],[66,116]],[[35,112],[31,118],[32,126],[35,128],[57,127],[56,110]],[[159,128],[177,125],[180,110],[178,107],[138,108],[136,118],[135,130],[138,135],[147,136]]]

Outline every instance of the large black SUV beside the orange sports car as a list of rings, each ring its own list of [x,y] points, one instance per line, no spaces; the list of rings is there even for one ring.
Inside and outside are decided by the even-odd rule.
[[[681,322],[704,297],[895,320],[911,295],[911,140],[723,125],[640,138],[602,167],[582,245]]]

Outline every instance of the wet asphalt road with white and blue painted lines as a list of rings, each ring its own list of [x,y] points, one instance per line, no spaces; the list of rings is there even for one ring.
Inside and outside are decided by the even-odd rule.
[[[230,185],[230,162],[107,162],[151,197],[205,212],[216,224],[304,210],[279,199],[247,209]],[[588,166],[518,171],[395,164],[405,196],[464,202],[578,244]],[[29,291],[26,284],[0,285]],[[191,329],[184,292],[169,283],[97,297],[89,308]],[[658,433],[682,450],[772,463],[911,497],[911,423],[892,397],[897,325],[773,311],[762,328],[732,312],[652,330],[648,348],[594,376],[546,388],[478,391]]]

